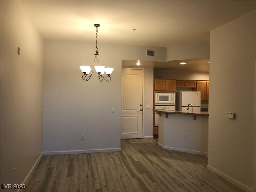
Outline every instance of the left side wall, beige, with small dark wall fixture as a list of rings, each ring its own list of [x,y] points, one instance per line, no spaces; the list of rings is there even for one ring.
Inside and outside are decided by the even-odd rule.
[[[42,154],[43,40],[18,1],[0,3],[1,184],[21,184]]]

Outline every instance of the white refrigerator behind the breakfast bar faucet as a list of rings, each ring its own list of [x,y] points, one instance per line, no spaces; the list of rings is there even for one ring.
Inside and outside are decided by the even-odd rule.
[[[182,112],[201,112],[201,92],[200,91],[178,91],[176,92],[176,110]],[[188,109],[188,110],[187,110]]]

